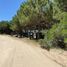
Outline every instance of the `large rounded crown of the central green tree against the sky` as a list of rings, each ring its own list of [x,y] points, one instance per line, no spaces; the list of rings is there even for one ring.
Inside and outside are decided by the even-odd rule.
[[[24,26],[36,26],[42,21],[52,21],[52,3],[48,0],[28,0],[22,3],[20,9],[17,11],[17,16],[20,24]],[[45,25],[45,24],[44,24]]]

